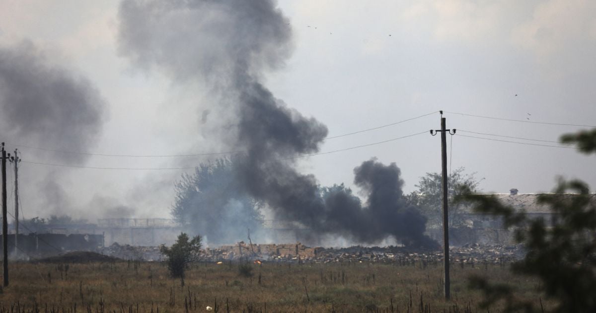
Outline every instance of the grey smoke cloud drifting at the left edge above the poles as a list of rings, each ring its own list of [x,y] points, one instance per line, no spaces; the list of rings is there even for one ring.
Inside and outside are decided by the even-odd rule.
[[[85,153],[100,134],[105,103],[88,79],[58,66],[32,42],[23,41],[0,47],[0,110],[0,131],[7,149],[21,144]],[[27,150],[23,159],[81,165],[88,156]],[[38,181],[35,194],[46,212],[69,209],[69,197],[58,179],[64,171],[21,176],[25,181]]]

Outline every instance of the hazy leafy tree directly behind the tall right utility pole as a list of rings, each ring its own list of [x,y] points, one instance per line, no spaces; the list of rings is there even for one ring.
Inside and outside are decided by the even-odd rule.
[[[454,202],[454,197],[461,194],[462,190],[476,192],[480,182],[484,179],[477,179],[476,173],[465,173],[465,168],[458,168],[451,172],[448,177],[448,205],[449,205],[449,227],[461,227],[464,224],[462,209],[465,203]],[[442,175],[440,173],[426,173],[420,178],[415,187],[418,190],[406,195],[409,204],[420,208],[429,222],[435,227],[443,225],[443,193]]]

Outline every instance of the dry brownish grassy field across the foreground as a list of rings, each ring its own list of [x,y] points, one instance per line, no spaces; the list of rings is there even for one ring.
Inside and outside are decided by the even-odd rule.
[[[442,297],[440,264],[264,262],[250,264],[252,276],[239,265],[194,264],[183,282],[157,262],[15,263],[0,312],[486,312],[467,287],[471,274],[510,283],[517,296],[539,302],[537,281],[499,265],[452,265],[450,301]]]

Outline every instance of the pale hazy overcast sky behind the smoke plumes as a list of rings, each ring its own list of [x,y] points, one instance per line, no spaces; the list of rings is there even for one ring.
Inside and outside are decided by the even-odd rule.
[[[265,85],[288,106],[325,123],[331,137],[438,110],[596,125],[595,1],[285,0],[279,7],[290,20],[294,48],[283,67],[265,74]],[[226,129],[216,114],[207,113],[219,106],[207,86],[188,88],[159,70],[138,70],[123,57],[117,44],[118,10],[119,1],[108,0],[2,0],[0,47],[29,41],[48,63],[94,86],[105,112],[97,142],[89,142],[88,152],[170,155],[233,148],[212,135]],[[321,152],[437,129],[439,117],[435,113],[327,140]],[[533,144],[558,145],[470,132],[557,141],[559,135],[581,129],[454,113],[445,117],[448,128],[461,130],[458,135]],[[0,137],[9,151],[17,148],[14,144],[61,150],[54,140],[44,141],[43,132],[35,142],[7,135],[8,128],[33,128],[17,122],[3,120]],[[596,186],[594,156],[458,135],[448,138],[449,164],[477,172],[477,178],[484,178],[483,191],[550,191],[557,175]],[[91,156],[73,162],[58,153],[18,148],[24,161],[20,192],[26,218],[54,213],[167,217],[173,184],[183,171],[77,169],[25,161],[181,168],[208,160]],[[395,162],[405,191],[412,191],[424,173],[440,171],[440,138],[426,133],[313,156],[301,160],[300,169],[315,174],[322,185],[353,185],[353,169],[371,157]],[[51,195],[42,188],[48,179],[55,184]]]

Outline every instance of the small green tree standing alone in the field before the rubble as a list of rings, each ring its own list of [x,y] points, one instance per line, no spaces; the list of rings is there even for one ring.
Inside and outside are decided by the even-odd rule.
[[[160,251],[167,256],[167,269],[174,278],[184,278],[186,266],[198,259],[201,236],[196,235],[193,239],[189,239],[187,234],[181,233],[172,247],[160,247]]]

